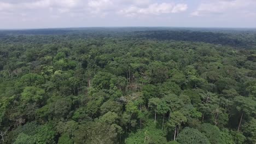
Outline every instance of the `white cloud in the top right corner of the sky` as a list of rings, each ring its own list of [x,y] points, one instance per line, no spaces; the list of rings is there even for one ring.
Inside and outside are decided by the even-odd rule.
[[[256,6],[255,0],[216,0],[201,3],[199,7],[191,13],[192,16],[203,16],[210,14],[223,14],[231,10],[241,10],[247,7]],[[254,7],[255,8],[255,7]]]

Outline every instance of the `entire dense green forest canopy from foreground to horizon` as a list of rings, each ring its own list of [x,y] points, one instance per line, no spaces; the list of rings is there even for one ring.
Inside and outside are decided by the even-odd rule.
[[[255,143],[255,29],[0,31],[0,143]]]

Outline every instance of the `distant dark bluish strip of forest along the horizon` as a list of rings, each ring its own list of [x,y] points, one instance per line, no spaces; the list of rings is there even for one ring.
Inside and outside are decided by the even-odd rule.
[[[68,39],[84,38],[136,38],[136,39],[155,39],[155,40],[178,40],[178,41],[197,41],[211,44],[222,44],[243,49],[252,49],[256,45],[256,29],[231,29],[231,28],[169,28],[169,27],[124,27],[124,28],[59,28],[59,29],[28,29],[28,30],[5,30],[0,31],[0,39],[5,43],[10,40],[22,42],[21,35],[31,35],[23,38],[28,42],[34,39],[34,35],[47,35],[51,38],[48,43],[53,41],[49,35],[58,35],[58,39],[68,37]],[[6,37],[9,36],[9,37]],[[61,37],[62,36],[62,37]],[[17,39],[17,37],[19,39]],[[45,38],[45,37],[44,37]],[[30,41],[32,43],[32,41]],[[34,42],[34,41],[33,41]],[[42,41],[43,42],[43,41]],[[43,42],[44,43],[44,42]],[[256,49],[256,48],[255,48]]]

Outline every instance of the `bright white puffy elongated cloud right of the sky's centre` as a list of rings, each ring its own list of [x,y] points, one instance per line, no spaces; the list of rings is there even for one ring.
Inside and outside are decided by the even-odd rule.
[[[160,15],[170,13],[181,13],[188,9],[187,4],[174,4],[174,3],[154,3],[148,5],[148,7],[137,7],[131,6],[118,11],[119,14],[125,16],[136,16],[136,15]]]

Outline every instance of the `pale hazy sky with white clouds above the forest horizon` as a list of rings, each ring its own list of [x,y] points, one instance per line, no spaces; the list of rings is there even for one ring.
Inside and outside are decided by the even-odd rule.
[[[0,0],[0,29],[256,28],[256,0]]]

